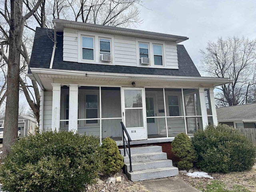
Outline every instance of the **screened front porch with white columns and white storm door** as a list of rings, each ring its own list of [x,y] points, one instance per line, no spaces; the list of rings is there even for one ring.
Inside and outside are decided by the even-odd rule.
[[[132,140],[173,138],[180,132],[190,136],[217,124],[213,88],[52,86],[53,103],[60,101],[52,127],[99,136],[100,141],[121,141],[121,121]]]

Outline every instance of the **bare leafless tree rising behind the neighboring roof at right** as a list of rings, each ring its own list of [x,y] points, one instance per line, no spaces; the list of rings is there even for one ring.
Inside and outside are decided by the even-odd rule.
[[[218,87],[216,99],[220,106],[246,103],[248,90],[256,84],[256,40],[248,38],[218,38],[200,50],[200,70],[213,77],[230,78],[231,84]]]

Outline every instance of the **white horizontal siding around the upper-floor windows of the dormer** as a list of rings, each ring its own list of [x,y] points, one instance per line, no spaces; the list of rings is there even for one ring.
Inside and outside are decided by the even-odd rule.
[[[157,40],[136,39],[128,36],[111,36],[94,32],[86,32],[75,29],[64,28],[63,33],[63,60],[70,62],[137,66],[146,68],[168,68],[178,69],[177,47],[175,42],[162,42]],[[81,36],[94,36],[94,61],[82,60],[82,42]],[[100,39],[111,40],[112,62],[100,61]],[[150,65],[142,66],[139,63],[139,45],[138,42],[148,43]],[[162,65],[154,65],[153,44],[162,45]],[[58,47],[58,44],[57,44]]]

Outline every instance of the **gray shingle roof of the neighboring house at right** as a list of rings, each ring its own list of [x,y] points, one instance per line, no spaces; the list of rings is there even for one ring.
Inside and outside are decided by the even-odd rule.
[[[216,108],[218,122],[232,120],[255,120],[256,103]]]

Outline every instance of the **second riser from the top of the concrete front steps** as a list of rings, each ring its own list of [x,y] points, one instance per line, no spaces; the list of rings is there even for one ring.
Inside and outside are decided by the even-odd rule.
[[[134,162],[140,162],[140,161],[150,161],[150,160],[164,160],[167,159],[167,154],[166,153],[160,153],[160,154],[148,154],[148,155],[138,155],[138,156],[133,156],[132,157],[132,163]],[[124,163],[129,164],[129,157],[126,156],[124,157]]]

